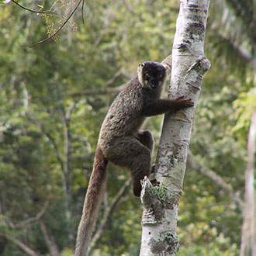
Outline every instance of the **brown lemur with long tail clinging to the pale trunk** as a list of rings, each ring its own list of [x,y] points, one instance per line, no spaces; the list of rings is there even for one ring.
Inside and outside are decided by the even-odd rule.
[[[140,196],[140,181],[150,174],[154,138],[149,130],[140,130],[147,116],[192,107],[191,99],[160,99],[162,85],[171,73],[171,56],[162,63],[144,62],[112,102],[102,123],[95,152],[92,175],[81,221],[75,256],[84,256],[92,237],[102,195],[106,188],[108,161],[131,171],[133,193]]]

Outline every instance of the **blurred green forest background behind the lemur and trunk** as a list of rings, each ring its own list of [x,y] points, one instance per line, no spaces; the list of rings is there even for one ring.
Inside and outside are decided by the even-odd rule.
[[[0,254],[72,255],[99,129],[140,61],[171,52],[178,1],[0,5]],[[239,254],[247,134],[256,109],[256,7],[211,2],[203,81],[178,218],[179,256]],[[164,95],[166,97],[166,95]],[[162,116],[148,120],[158,142]],[[156,150],[155,150],[156,151]],[[140,199],[128,171],[109,165],[92,255],[137,255]]]

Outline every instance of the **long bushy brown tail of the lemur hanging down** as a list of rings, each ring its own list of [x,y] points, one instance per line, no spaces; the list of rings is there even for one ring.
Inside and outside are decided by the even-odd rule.
[[[106,157],[104,157],[102,150],[97,147],[92,175],[85,196],[83,213],[78,227],[74,256],[87,255],[88,246],[92,238],[92,232],[99,212],[99,206],[106,189],[107,164],[108,161]]]

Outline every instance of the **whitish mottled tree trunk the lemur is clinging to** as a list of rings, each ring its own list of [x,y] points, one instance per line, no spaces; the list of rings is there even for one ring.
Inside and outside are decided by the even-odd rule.
[[[172,48],[169,98],[185,96],[196,106],[202,75],[210,67],[203,50],[209,0],[180,2]],[[178,251],[178,203],[182,196],[194,113],[195,107],[164,116],[156,163],[160,186],[153,187],[144,178],[140,195],[144,207],[140,256],[175,255]]]

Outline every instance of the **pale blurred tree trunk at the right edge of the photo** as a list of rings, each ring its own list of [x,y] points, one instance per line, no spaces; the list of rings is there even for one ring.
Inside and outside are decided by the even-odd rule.
[[[240,256],[256,255],[255,154],[256,112],[251,116],[251,126],[248,134],[248,164],[245,173],[244,222],[242,227]]]

